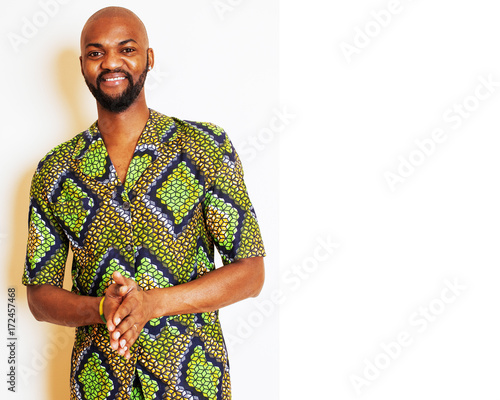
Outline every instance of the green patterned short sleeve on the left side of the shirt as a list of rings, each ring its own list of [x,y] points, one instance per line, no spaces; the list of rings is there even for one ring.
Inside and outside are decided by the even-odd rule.
[[[68,247],[68,239],[47,199],[43,171],[39,168],[31,182],[28,244],[22,283],[62,287]]]

